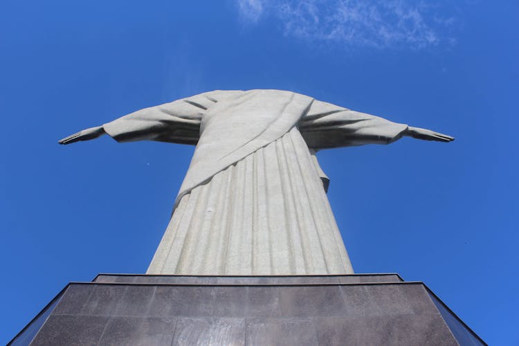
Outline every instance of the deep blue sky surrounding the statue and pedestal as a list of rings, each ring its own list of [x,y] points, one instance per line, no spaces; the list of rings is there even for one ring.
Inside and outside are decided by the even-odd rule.
[[[68,147],[79,129],[212,89],[287,89],[456,137],[320,152],[358,273],[424,281],[519,344],[519,3],[0,3],[0,343],[69,281],[143,273],[193,148]]]

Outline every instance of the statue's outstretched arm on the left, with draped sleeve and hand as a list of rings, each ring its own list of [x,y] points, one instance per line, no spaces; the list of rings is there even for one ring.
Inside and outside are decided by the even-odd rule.
[[[104,125],[79,131],[59,143],[70,144],[108,134],[118,142],[157,140],[197,144],[203,112],[216,102],[208,94],[140,109]]]

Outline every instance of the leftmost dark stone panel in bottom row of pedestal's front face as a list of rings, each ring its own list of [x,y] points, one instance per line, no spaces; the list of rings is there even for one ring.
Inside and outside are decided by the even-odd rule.
[[[96,345],[108,320],[106,316],[51,315],[30,345]]]

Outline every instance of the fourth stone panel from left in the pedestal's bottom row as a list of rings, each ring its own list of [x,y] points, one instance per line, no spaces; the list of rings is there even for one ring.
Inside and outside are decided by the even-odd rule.
[[[318,345],[311,318],[254,318],[246,328],[246,345]]]

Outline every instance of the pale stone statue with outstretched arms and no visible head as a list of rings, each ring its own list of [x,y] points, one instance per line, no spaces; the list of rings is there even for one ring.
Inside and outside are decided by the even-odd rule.
[[[141,109],[61,144],[197,145],[148,274],[352,274],[320,149],[452,137],[280,90],[210,91]]]

